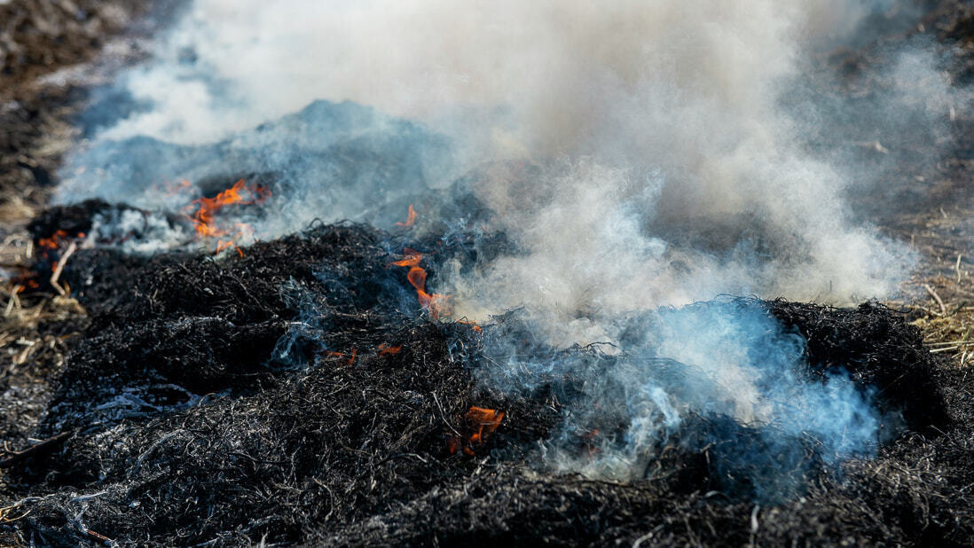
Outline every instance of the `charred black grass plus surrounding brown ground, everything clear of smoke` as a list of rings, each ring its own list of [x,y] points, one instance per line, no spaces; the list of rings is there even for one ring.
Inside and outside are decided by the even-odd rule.
[[[87,19],[75,20],[72,4]],[[805,336],[812,376],[843,364],[857,384],[876,387],[886,417],[902,418],[888,421],[878,455],[838,470],[804,467],[801,493],[761,503],[729,476],[739,467],[721,466],[720,448],[683,443],[715,420],[698,418],[659,448],[645,479],[595,481],[539,465],[537,444],[560,420],[557,398],[477,384],[481,332],[418,314],[411,288],[386,269],[398,258],[389,235],[374,229],[317,226],[242,258],[85,249],[66,265],[69,295],[44,285],[51,265],[37,265],[32,246],[65,219],[41,215],[34,235],[22,229],[47,200],[72,134],[71,105],[84,93],[38,78],[90,58],[141,3],[112,4],[0,6],[5,40],[17,46],[5,51],[20,52],[3,57],[0,261],[16,274],[44,273],[33,293],[16,282],[0,293],[5,544],[962,546],[974,538],[969,151],[913,189],[937,203],[916,218],[896,211],[880,221],[923,253],[914,299],[894,310],[742,304]],[[924,22],[963,45],[969,15],[941,2]],[[478,428],[471,406],[506,413],[482,443],[469,442]],[[753,432],[732,426],[739,435],[725,441],[747,443]],[[815,464],[813,452],[808,459]]]

